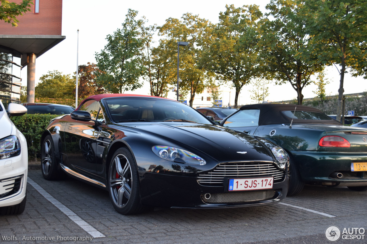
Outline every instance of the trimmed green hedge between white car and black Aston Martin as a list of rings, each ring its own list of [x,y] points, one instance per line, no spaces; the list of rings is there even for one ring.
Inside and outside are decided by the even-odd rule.
[[[50,114],[36,114],[29,115],[25,114],[22,116],[12,116],[10,119],[13,121],[15,126],[22,132],[25,136],[28,144],[28,157],[37,160],[40,157],[41,147],[40,139],[41,135],[46,129],[50,120],[59,115]]]

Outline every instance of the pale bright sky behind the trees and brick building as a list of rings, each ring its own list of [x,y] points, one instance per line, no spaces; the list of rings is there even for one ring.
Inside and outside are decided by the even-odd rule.
[[[266,11],[265,5],[268,0],[232,0],[232,1],[208,1],[208,0],[63,0],[62,7],[62,35],[66,39],[47,53],[36,59],[36,84],[39,77],[48,71],[58,70],[63,74],[73,74],[76,71],[77,62],[77,30],[79,29],[79,65],[95,63],[95,52],[100,52],[106,44],[106,35],[113,34],[121,28],[127,10],[139,11],[138,16],[145,16],[148,24],[163,25],[167,18],[181,18],[187,12],[198,14],[200,18],[218,22],[219,12],[225,11],[225,5],[257,4],[260,10]],[[40,3],[41,4],[41,3]],[[41,11],[41,8],[40,8]],[[156,40],[158,41],[158,40]],[[26,85],[26,67],[22,70],[22,83]],[[339,88],[339,74],[335,67],[327,69],[327,77],[330,85],[326,87],[328,95],[335,95]],[[344,94],[366,91],[366,82],[362,78],[351,78],[349,75],[344,79]],[[229,91],[226,88],[225,91]],[[254,103],[249,97],[250,86],[244,86],[241,90],[239,104]],[[315,97],[315,86],[306,86],[303,90],[305,98]],[[234,90],[233,90],[234,91]],[[281,101],[291,100],[297,97],[297,93],[291,85],[269,85],[270,95],[265,100]],[[149,94],[149,85],[133,93]],[[168,97],[175,98],[174,92]],[[172,97],[171,97],[172,96]],[[232,99],[234,100],[234,95]],[[232,102],[233,104],[233,102]]]

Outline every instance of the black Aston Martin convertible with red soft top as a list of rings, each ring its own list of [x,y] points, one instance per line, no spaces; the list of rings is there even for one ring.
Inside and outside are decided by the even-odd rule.
[[[121,214],[270,204],[288,190],[281,147],[167,98],[93,95],[53,119],[41,141],[45,179],[65,172],[104,188]]]

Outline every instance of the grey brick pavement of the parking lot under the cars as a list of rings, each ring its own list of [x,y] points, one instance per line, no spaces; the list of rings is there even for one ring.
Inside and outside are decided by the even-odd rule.
[[[1,240],[1,243],[260,244],[275,240],[302,242],[305,238],[328,243],[323,234],[329,225],[367,228],[367,192],[348,188],[306,186],[301,194],[284,201],[335,215],[334,218],[283,204],[219,210],[156,208],[148,213],[125,216],[113,209],[107,191],[70,178],[46,181],[40,170],[30,170],[29,177],[106,237],[75,242],[19,241],[23,236],[90,237],[28,184],[25,212],[18,216],[0,216],[0,237],[14,235],[18,241]]]

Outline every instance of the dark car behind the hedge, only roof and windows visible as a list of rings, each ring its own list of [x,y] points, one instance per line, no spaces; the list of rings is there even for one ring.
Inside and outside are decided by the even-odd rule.
[[[49,113],[51,115],[68,115],[75,109],[72,106],[62,104],[23,103],[28,114]]]

